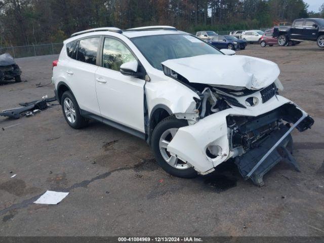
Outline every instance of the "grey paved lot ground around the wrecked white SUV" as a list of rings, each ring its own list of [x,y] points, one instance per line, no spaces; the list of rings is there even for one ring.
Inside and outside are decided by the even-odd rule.
[[[145,141],[96,122],[73,130],[53,106],[0,117],[0,235],[323,236],[324,51],[302,43],[238,53],[276,62],[284,96],[315,119],[311,130],[293,134],[301,173],[279,163],[261,188],[231,163],[210,176],[175,178]],[[52,85],[36,85],[50,83],[56,58],[18,59],[27,82],[0,86],[0,110],[52,96]],[[46,190],[70,194],[55,206],[33,204]]]

